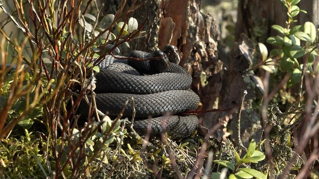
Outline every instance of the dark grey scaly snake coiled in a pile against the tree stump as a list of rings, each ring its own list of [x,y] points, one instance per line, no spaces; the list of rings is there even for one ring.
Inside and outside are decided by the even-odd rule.
[[[199,97],[190,89],[191,74],[179,62],[177,48],[171,45],[153,53],[133,50],[128,57],[106,55],[95,76],[97,109],[116,117],[128,100],[123,116],[131,117],[133,98],[137,133],[167,132],[173,139],[190,136],[198,127],[198,118],[182,113],[195,111]]]

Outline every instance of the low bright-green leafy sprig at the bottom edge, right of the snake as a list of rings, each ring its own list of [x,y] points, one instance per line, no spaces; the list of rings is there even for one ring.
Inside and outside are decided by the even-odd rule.
[[[229,175],[228,179],[252,179],[255,177],[256,179],[266,179],[267,177],[262,173],[252,168],[240,168],[242,164],[246,163],[258,163],[265,159],[265,155],[263,152],[256,150],[256,142],[252,139],[248,146],[248,150],[246,155],[243,158],[240,158],[237,151],[234,149],[234,153],[236,156],[236,164],[233,164],[226,160],[214,160],[214,163],[220,164],[222,166],[227,167],[232,171]],[[212,179],[220,179],[220,172],[215,172],[212,174]]]

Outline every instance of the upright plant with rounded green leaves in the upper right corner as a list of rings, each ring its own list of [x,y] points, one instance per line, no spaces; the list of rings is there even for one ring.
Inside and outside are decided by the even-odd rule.
[[[271,62],[273,59],[279,60],[279,66],[282,71],[290,75],[287,82],[288,87],[293,87],[296,83],[301,82],[302,73],[308,73],[315,76],[319,71],[319,65],[313,67],[315,56],[318,54],[317,30],[312,22],[305,22],[303,26],[297,25],[291,28],[291,24],[297,22],[293,17],[297,16],[300,12],[306,13],[301,10],[297,4],[300,0],[281,0],[287,8],[288,21],[286,26],[280,25],[271,26],[272,29],[281,33],[282,36],[271,36],[267,38],[267,43],[279,46],[279,49],[272,49],[270,56],[267,57],[268,52],[263,44],[259,45],[263,62]],[[304,41],[305,43],[301,43]],[[300,64],[298,58],[303,58],[303,64]],[[273,73],[275,72],[274,65],[262,65],[265,70]],[[304,72],[303,72],[304,71]]]

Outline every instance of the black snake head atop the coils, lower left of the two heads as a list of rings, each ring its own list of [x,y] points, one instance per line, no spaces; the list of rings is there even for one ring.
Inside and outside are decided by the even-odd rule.
[[[167,71],[169,68],[169,60],[167,58],[167,55],[159,50],[155,50],[152,53],[152,57],[149,61],[150,67],[152,70],[158,72],[158,73],[163,73]]]

